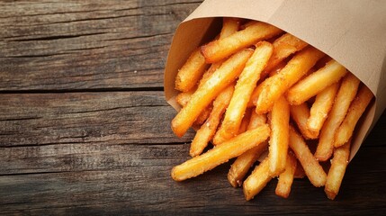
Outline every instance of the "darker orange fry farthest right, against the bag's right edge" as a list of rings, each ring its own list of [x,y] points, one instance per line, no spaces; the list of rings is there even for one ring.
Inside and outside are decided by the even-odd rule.
[[[362,85],[358,94],[356,94],[355,100],[351,103],[350,108],[348,108],[345,120],[335,133],[334,147],[337,148],[343,146],[348,139],[353,136],[356,122],[358,122],[359,118],[362,116],[364,110],[372,99],[372,91],[366,85]]]

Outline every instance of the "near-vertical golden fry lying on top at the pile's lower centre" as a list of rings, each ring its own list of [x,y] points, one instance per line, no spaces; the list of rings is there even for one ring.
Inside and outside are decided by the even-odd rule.
[[[285,169],[288,152],[290,105],[282,96],[274,103],[271,112],[271,137],[269,139],[269,171],[280,175]]]

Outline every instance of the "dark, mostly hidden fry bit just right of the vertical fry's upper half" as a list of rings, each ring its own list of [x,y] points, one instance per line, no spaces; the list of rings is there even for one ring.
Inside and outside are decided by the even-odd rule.
[[[310,108],[307,103],[301,103],[299,105],[290,106],[292,120],[296,122],[301,135],[305,139],[317,139],[318,133],[311,131],[307,128],[307,121],[310,117]]]

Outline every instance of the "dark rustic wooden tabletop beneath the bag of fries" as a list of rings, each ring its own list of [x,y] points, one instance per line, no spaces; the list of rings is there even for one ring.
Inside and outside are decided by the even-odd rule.
[[[163,69],[178,23],[201,1],[0,1],[0,214],[382,214],[386,114],[341,191],[276,180],[253,201],[229,163],[183,183],[190,131],[170,130]]]

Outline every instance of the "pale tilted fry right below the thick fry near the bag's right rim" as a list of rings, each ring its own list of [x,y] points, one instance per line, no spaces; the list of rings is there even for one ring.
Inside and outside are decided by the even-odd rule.
[[[339,83],[329,85],[323,91],[319,92],[310,108],[310,117],[307,120],[307,129],[319,136],[319,131],[326,121],[328,112],[332,108],[334,99],[337,95]]]

